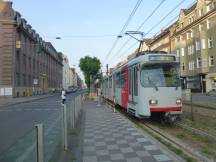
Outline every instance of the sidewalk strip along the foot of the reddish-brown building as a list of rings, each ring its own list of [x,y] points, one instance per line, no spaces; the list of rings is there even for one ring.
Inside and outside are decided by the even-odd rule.
[[[58,93],[36,95],[36,96],[29,96],[29,97],[0,98],[0,108],[3,106],[10,106],[10,105],[19,104],[19,103],[31,102],[34,100],[40,100],[42,98],[47,98],[47,97],[51,97],[51,96],[55,96],[55,95],[58,95]]]

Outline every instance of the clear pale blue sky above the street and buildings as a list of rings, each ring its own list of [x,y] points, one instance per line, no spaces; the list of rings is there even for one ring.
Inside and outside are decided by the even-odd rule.
[[[161,1],[143,0],[124,33],[137,30]],[[177,18],[180,9],[188,8],[195,0],[182,1],[165,0],[140,29],[147,33],[158,24],[144,37],[152,37],[167,27],[173,18]],[[180,2],[181,5],[176,8]],[[81,57],[89,55],[99,58],[104,71],[106,64],[115,66],[138,47],[135,39],[123,34],[109,53],[136,3],[137,0],[13,0],[13,8],[43,40],[51,42],[57,51],[67,55],[70,66],[76,67],[80,73],[78,66]],[[129,42],[121,48],[128,39]]]

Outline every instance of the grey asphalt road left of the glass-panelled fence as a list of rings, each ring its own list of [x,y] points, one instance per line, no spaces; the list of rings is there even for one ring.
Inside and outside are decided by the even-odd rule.
[[[79,93],[79,92],[77,92]],[[67,95],[67,102],[75,94]],[[0,108],[0,155],[8,150],[26,133],[56,113],[61,113],[60,95],[28,103]]]

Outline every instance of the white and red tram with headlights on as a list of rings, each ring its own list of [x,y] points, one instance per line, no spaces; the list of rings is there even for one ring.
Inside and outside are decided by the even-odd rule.
[[[141,53],[103,79],[102,93],[138,118],[182,113],[179,60],[175,54]]]

